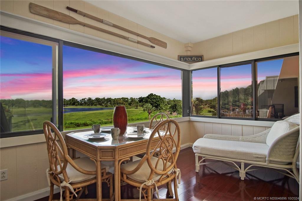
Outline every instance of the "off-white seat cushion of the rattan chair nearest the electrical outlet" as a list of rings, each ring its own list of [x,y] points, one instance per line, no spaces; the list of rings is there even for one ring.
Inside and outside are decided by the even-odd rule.
[[[88,171],[95,171],[96,170],[95,162],[90,160],[88,157],[82,157],[82,158],[79,158],[79,159],[75,159],[73,161],[79,167],[83,168],[84,170],[88,170]],[[102,169],[106,168],[106,171],[108,171],[109,166],[101,164],[101,168]],[[67,176],[68,176],[69,181],[71,180],[70,183],[78,183],[78,182],[82,182],[82,181],[87,181],[89,179],[93,179],[94,177],[96,177],[95,174],[82,174],[81,172],[79,172],[75,168],[73,168],[72,165],[70,165],[69,163],[66,167],[66,172],[67,172]],[[59,177],[62,181],[64,181],[63,174],[59,174]]]

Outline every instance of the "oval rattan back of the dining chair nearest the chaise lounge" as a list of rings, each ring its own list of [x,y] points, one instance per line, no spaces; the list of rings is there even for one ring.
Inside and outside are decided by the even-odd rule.
[[[162,131],[160,128],[167,129]],[[159,137],[160,141],[155,147],[152,146],[153,138]],[[154,146],[154,145],[153,145]],[[175,152],[173,153],[173,148]],[[146,149],[146,160],[151,169],[149,180],[154,174],[162,175],[160,180],[169,176],[173,168],[176,167],[176,160],[180,151],[180,128],[174,119],[166,119],[160,122],[153,130],[148,140]],[[153,157],[157,153],[157,158]],[[154,162],[156,160],[156,163]]]

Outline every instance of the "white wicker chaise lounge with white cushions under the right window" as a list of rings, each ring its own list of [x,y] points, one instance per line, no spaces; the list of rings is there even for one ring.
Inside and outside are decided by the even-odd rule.
[[[300,114],[296,114],[283,121],[275,122],[271,128],[256,135],[206,134],[193,144],[196,172],[199,171],[200,165],[212,163],[204,162],[205,159],[214,159],[214,162],[233,163],[233,165],[226,164],[239,170],[241,180],[244,180],[246,172],[259,169],[251,167],[258,166],[273,168],[299,182],[297,171],[300,147],[299,131]],[[201,156],[202,159],[199,160],[198,156]],[[241,167],[235,162],[240,162]],[[244,163],[250,165],[245,168]]]

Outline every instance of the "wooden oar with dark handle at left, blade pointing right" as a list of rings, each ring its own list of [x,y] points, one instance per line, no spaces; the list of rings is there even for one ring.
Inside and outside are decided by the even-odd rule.
[[[117,29],[119,29],[119,30],[126,31],[126,32],[128,32],[128,33],[133,34],[133,35],[136,35],[136,36],[139,36],[139,37],[141,37],[141,38],[147,39],[147,40],[149,40],[150,42],[152,42],[153,44],[155,44],[155,45],[157,45],[157,46],[160,46],[160,47],[163,47],[163,48],[167,48],[167,43],[166,43],[166,42],[163,42],[162,40],[159,40],[159,39],[156,39],[156,38],[153,38],[153,37],[144,36],[144,35],[142,35],[142,34],[140,34],[140,33],[131,31],[131,30],[126,29],[126,28],[124,28],[124,27],[118,26],[117,24],[113,24],[112,22],[109,22],[109,21],[107,21],[107,20],[103,20],[103,19],[101,19],[101,18],[95,17],[95,16],[93,16],[93,15],[90,15],[90,14],[85,13],[85,12],[83,12],[83,11],[80,11],[80,10],[77,10],[77,9],[74,9],[74,8],[71,8],[71,7],[69,7],[69,6],[67,6],[66,8],[67,8],[68,10],[70,10],[70,11],[76,12],[76,13],[79,14],[79,15],[82,15],[83,17],[88,17],[88,18],[90,18],[90,19],[92,19],[92,20],[96,20],[96,21],[101,22],[101,23],[103,23],[103,24],[106,24],[106,25],[108,25],[108,26],[110,26],[110,27],[114,27],[114,28],[117,28]]]

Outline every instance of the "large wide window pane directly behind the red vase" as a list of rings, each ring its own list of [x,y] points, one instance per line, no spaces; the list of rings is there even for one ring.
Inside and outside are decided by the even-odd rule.
[[[113,109],[126,106],[128,123],[157,112],[182,116],[181,71],[63,46],[64,130],[112,125]]]

